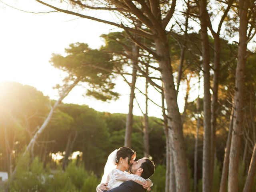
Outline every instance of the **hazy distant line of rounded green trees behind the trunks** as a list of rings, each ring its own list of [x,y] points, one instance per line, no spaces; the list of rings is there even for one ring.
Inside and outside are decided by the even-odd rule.
[[[1,104],[8,107],[1,108],[0,124],[0,170],[12,172],[16,166],[18,156],[36,132],[38,126],[44,122],[54,103],[31,86],[23,86],[16,82],[0,84]],[[194,164],[194,142],[196,134],[196,120],[193,110],[195,104],[188,105],[188,116],[184,124],[186,153],[190,169]],[[112,150],[124,145],[126,114],[110,114],[97,112],[87,105],[60,104],[58,110],[42,133],[30,154],[31,158],[38,156],[44,167],[50,163],[52,167],[61,166],[65,170],[71,162],[73,152],[80,151],[76,157],[77,164],[86,170],[94,172],[99,178],[103,173],[104,164]],[[132,132],[132,148],[137,151],[138,158],[143,156],[142,116],[134,116]],[[228,120],[226,120],[228,123]],[[150,117],[150,156],[156,166],[166,164],[166,140],[163,122],[159,118]],[[216,156],[222,162],[227,131],[219,130]],[[199,171],[202,175],[202,130],[199,138]],[[61,160],[54,160],[51,154],[62,155]],[[162,173],[164,174],[164,173]]]

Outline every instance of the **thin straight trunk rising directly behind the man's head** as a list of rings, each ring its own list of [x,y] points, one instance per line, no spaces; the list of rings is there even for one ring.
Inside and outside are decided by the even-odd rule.
[[[148,67],[146,69],[146,75],[148,76]],[[148,125],[148,80],[146,78],[146,103],[145,103],[145,114],[144,114],[144,129],[143,129],[143,137],[144,137],[144,157],[149,156],[149,125]]]

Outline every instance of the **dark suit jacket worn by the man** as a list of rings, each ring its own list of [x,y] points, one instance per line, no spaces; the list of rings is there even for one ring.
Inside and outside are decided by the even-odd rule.
[[[120,186],[104,192],[145,192],[145,189],[134,181],[125,181]]]

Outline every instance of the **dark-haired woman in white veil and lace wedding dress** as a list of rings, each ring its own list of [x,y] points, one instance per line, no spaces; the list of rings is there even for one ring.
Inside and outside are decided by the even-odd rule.
[[[150,190],[153,185],[149,179],[130,174],[125,170],[129,170],[131,164],[136,158],[136,152],[128,147],[120,147],[114,150],[109,156],[104,168],[101,184],[108,183],[107,188],[113,189],[118,187],[122,182],[132,180],[142,185],[145,189]],[[101,192],[97,187],[97,192]]]

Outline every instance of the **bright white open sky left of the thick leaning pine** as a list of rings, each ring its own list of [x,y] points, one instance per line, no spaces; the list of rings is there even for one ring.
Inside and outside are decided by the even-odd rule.
[[[114,29],[106,24],[63,13],[26,13],[2,2],[27,11],[47,12],[50,9],[34,0],[0,0],[0,81],[34,86],[51,99],[58,98],[52,87],[61,83],[64,77],[50,65],[51,54],[63,54],[64,48],[74,42],[84,42],[91,48],[98,48],[103,44],[99,36]],[[142,82],[138,81],[138,84]],[[127,113],[129,87],[120,80],[116,89],[121,94],[120,99],[110,103],[82,96],[85,92],[82,86],[75,87],[64,102],[86,104],[98,111]],[[139,102],[144,103],[144,97],[136,95]],[[161,103],[159,95],[155,101]],[[136,102],[134,114],[141,115]],[[161,117],[161,109],[150,105],[149,115]]]

